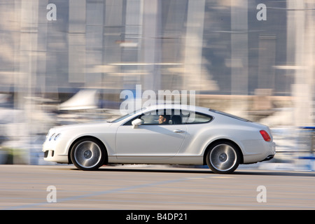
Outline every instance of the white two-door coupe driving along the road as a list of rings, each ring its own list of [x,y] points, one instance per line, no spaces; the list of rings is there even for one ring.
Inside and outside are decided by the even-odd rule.
[[[230,174],[239,164],[271,160],[269,127],[194,106],[157,105],[111,122],[52,128],[44,159],[94,170],[106,164],[208,165]]]

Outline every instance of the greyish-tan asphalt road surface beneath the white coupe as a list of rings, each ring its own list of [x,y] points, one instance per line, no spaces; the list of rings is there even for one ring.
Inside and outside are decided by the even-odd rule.
[[[0,165],[0,209],[315,209],[315,172]]]

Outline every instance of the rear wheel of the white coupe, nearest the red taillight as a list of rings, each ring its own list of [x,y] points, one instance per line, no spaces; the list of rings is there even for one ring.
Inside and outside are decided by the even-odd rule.
[[[229,141],[220,141],[207,153],[207,165],[216,174],[231,174],[239,166],[239,148]]]

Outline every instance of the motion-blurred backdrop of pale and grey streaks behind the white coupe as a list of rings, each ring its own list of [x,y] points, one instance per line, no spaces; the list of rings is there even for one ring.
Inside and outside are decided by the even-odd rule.
[[[0,17],[0,164],[48,164],[50,127],[120,116],[141,85],[269,125],[257,166],[314,170],[313,0],[0,0]]]

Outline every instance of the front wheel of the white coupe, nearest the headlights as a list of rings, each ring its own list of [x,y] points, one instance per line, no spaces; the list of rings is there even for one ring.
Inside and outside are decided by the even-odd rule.
[[[104,164],[106,151],[104,146],[92,138],[80,139],[71,148],[73,165],[81,170],[96,170]]]

